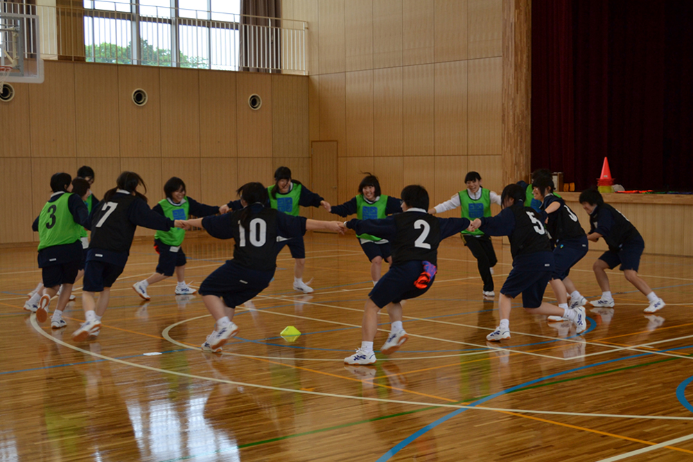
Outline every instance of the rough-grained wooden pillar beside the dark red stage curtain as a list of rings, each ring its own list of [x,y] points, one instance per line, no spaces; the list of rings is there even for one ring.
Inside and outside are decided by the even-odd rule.
[[[503,0],[503,184],[529,181],[532,157],[532,0]]]

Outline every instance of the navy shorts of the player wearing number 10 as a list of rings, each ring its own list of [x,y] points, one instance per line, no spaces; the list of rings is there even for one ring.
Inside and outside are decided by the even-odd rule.
[[[244,268],[227,260],[202,281],[200,295],[216,295],[229,308],[236,308],[265,290],[274,277],[274,271]]]

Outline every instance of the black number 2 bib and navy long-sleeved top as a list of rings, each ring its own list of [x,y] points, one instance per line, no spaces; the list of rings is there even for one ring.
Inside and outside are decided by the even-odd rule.
[[[347,228],[357,234],[368,233],[387,239],[392,245],[392,265],[408,261],[428,261],[438,265],[438,245],[441,240],[467,229],[466,218],[438,218],[423,208],[409,208],[378,220],[349,220]]]

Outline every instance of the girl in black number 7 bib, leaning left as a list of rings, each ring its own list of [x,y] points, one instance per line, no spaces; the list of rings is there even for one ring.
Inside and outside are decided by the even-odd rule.
[[[137,191],[137,186],[141,185],[146,193],[147,186],[137,173],[121,173],[116,185],[105,193],[91,220],[91,242],[82,290],[82,308],[85,310],[86,321],[73,332],[74,341],[83,341],[100,330],[111,286],[128,262],[137,226],[161,231],[168,231],[173,226],[183,226],[181,221],[174,222],[147,206],[147,198]],[[101,292],[98,303],[94,300],[95,292]]]

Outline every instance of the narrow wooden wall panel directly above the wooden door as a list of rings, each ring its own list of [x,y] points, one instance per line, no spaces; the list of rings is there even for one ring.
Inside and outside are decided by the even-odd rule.
[[[320,75],[320,138],[337,141],[340,156],[346,156],[347,89],[344,73]]]

